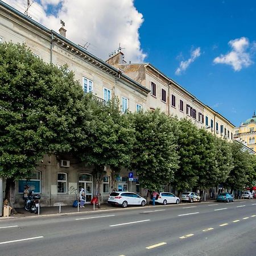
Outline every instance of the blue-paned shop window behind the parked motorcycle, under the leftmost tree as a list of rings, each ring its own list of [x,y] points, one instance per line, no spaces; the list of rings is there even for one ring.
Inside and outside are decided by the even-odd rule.
[[[23,179],[19,180],[19,193],[23,193],[25,185],[30,186],[30,191],[33,191],[34,193],[41,193],[41,172],[40,171],[34,171],[32,172],[32,175],[30,179]]]

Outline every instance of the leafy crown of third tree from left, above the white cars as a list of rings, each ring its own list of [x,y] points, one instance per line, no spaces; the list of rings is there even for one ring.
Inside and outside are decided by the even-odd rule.
[[[173,180],[178,168],[176,119],[160,110],[133,113],[130,119],[136,140],[131,168],[136,170],[142,188],[158,191]]]

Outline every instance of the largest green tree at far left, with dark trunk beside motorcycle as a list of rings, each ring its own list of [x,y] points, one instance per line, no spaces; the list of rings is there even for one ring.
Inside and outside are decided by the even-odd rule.
[[[15,181],[29,179],[49,152],[83,141],[81,86],[73,73],[45,64],[24,45],[0,44],[0,175],[14,203]]]

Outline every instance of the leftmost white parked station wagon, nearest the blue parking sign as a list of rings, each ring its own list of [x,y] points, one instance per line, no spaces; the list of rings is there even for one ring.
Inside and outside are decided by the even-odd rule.
[[[123,208],[126,208],[128,205],[141,205],[144,207],[146,199],[133,192],[115,191],[110,193],[108,204],[122,205]]]

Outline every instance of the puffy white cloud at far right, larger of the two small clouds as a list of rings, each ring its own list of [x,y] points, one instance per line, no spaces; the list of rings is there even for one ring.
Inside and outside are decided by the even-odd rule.
[[[213,63],[231,65],[234,71],[240,71],[242,68],[253,64],[249,52],[253,46],[250,45],[247,38],[242,37],[230,40],[229,46],[232,48],[232,51],[226,55],[221,54],[216,57]]]

